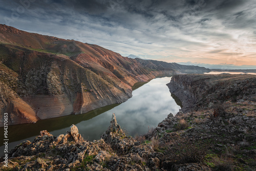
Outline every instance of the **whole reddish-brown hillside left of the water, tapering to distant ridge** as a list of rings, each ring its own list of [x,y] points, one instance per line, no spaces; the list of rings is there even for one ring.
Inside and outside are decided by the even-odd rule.
[[[132,56],[133,57],[133,56]],[[132,59],[97,45],[0,25],[0,126],[81,114],[132,97],[158,75],[209,69]]]

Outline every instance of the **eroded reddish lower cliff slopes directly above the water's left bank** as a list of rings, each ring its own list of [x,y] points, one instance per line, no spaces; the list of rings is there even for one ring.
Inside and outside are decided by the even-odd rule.
[[[34,53],[28,51],[28,53]],[[132,86],[138,81],[147,81],[164,72],[147,72],[141,75],[120,72],[116,77],[107,69],[91,71],[71,59],[36,52],[35,59],[20,68],[2,63],[1,78],[1,124],[3,114],[9,114],[9,124],[36,122],[70,114],[81,114],[105,105],[121,103],[132,97]],[[22,55],[24,57],[25,55]],[[16,56],[17,57],[17,56]],[[32,61],[31,61],[32,60]],[[38,62],[39,60],[40,62]],[[119,67],[120,68],[120,67]],[[17,74],[20,73],[20,74]]]

